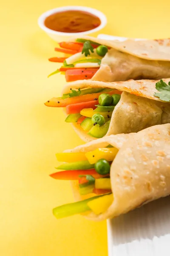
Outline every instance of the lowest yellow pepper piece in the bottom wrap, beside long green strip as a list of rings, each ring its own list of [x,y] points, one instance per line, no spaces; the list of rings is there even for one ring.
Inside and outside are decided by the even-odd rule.
[[[103,197],[88,201],[87,205],[96,215],[99,215],[105,212],[112,203],[113,194],[107,194]]]

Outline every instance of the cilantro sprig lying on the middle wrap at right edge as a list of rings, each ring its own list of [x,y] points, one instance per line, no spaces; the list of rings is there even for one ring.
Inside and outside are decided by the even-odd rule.
[[[156,83],[156,90],[160,93],[155,93],[154,96],[159,99],[170,102],[170,82],[166,84],[162,79]]]

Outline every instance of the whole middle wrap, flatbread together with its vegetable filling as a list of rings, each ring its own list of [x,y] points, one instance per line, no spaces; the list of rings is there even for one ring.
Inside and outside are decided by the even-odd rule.
[[[164,79],[170,82],[170,79]],[[82,140],[111,134],[138,132],[152,125],[170,122],[170,104],[154,96],[154,80],[124,82],[74,81],[65,85],[60,98],[45,102],[63,107]]]

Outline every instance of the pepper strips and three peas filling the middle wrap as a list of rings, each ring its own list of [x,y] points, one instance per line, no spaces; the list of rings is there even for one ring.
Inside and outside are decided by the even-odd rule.
[[[108,132],[111,115],[120,100],[121,91],[109,88],[71,90],[61,98],[52,98],[48,107],[65,107],[65,122],[77,123],[88,135],[102,138]]]

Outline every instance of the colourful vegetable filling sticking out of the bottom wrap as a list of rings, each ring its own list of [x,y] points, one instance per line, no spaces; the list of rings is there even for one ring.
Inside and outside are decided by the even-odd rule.
[[[56,154],[58,161],[66,162],[57,169],[65,171],[50,176],[57,180],[77,180],[80,195],[89,194],[88,199],[54,208],[53,214],[56,218],[88,211],[99,215],[108,209],[113,202],[110,169],[117,152],[117,148],[108,145],[106,148],[96,148],[86,153]]]

